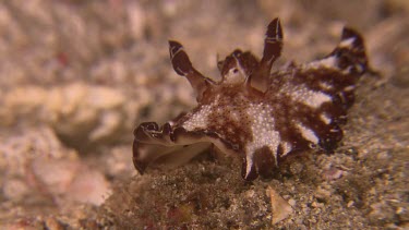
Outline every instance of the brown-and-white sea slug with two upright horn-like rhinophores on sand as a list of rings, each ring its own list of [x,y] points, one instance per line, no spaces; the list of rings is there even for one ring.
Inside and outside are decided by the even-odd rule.
[[[216,82],[192,65],[181,44],[170,40],[172,66],[190,82],[197,107],[163,126],[145,122],[135,129],[136,170],[179,165],[214,146],[242,158],[242,177],[254,180],[269,175],[292,153],[330,153],[342,137],[340,125],[368,66],[363,39],[345,27],[340,43],[325,58],[272,72],[281,49],[282,28],[275,19],[267,27],[262,59],[237,49],[218,62],[221,80]]]

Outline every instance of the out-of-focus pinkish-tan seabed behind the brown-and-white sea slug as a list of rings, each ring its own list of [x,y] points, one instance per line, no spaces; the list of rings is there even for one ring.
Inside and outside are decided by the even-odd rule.
[[[325,56],[349,25],[376,85],[407,90],[408,12],[407,0],[0,1],[0,227],[79,227],[136,175],[133,129],[195,105],[168,39],[218,80],[217,57],[260,57],[274,17],[285,33],[276,66]]]

